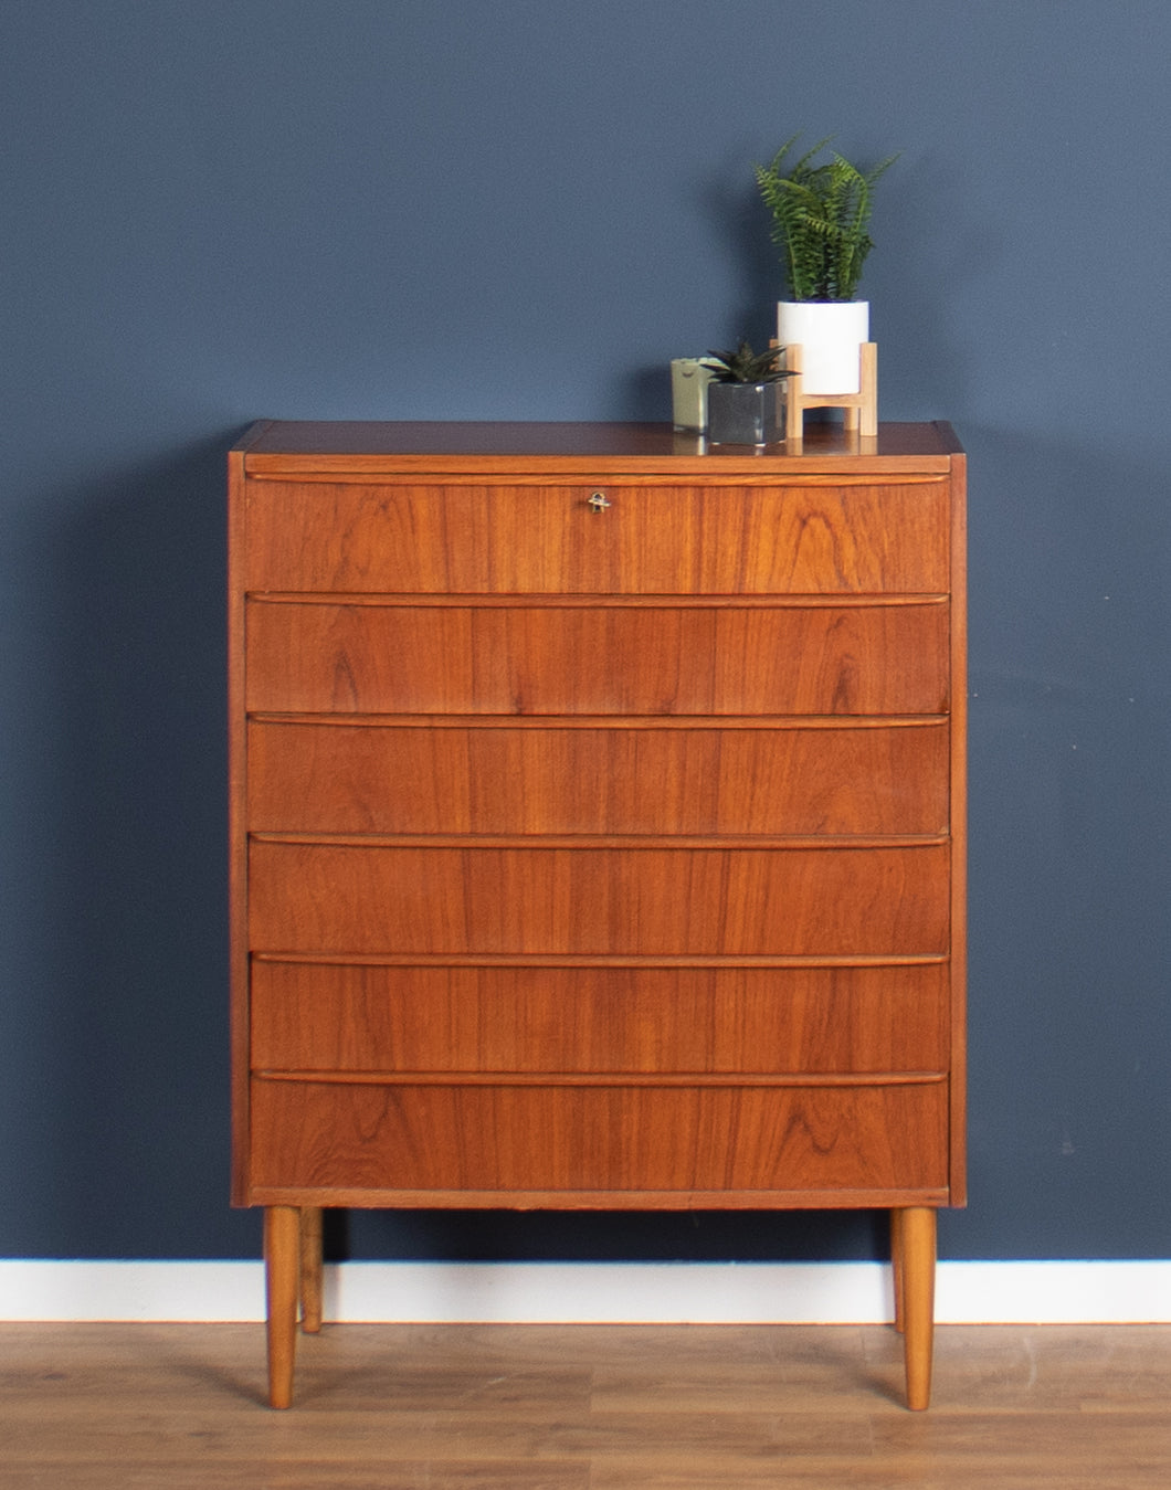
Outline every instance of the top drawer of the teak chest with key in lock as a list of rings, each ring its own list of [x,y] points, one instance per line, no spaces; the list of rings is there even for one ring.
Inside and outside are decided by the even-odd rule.
[[[609,504],[590,505],[600,493]],[[948,484],[247,484],[247,590],[949,590]]]

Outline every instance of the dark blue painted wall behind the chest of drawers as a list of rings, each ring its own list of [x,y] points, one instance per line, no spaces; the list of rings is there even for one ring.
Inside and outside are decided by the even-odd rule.
[[[9,0],[0,1255],[226,1205],[223,450],[661,419],[767,335],[752,162],[885,177],[886,419],[971,456],[971,1177],[953,1258],[1171,1234],[1164,0]],[[356,1216],[358,1256],[867,1255],[870,1217]]]

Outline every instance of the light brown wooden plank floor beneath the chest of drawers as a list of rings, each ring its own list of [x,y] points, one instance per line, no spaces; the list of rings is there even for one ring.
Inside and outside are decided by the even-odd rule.
[[[0,1325],[0,1486],[1171,1486],[1171,1326],[940,1328],[919,1414],[901,1354],[870,1326],[340,1325],[273,1413],[261,1326]]]

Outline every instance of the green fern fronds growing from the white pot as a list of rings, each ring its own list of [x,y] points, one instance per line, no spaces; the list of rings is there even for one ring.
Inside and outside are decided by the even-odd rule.
[[[787,167],[797,139],[790,136],[767,165],[755,168],[793,299],[854,299],[875,246],[870,191],[898,156],[888,155],[873,170],[860,171],[833,150],[828,161],[813,165],[813,156],[833,139],[828,136]]]

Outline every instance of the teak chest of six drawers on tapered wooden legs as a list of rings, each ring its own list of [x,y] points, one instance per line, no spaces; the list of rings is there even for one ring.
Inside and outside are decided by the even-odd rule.
[[[964,1201],[964,456],[653,425],[231,453],[234,1189],[270,1390],[320,1208]]]

